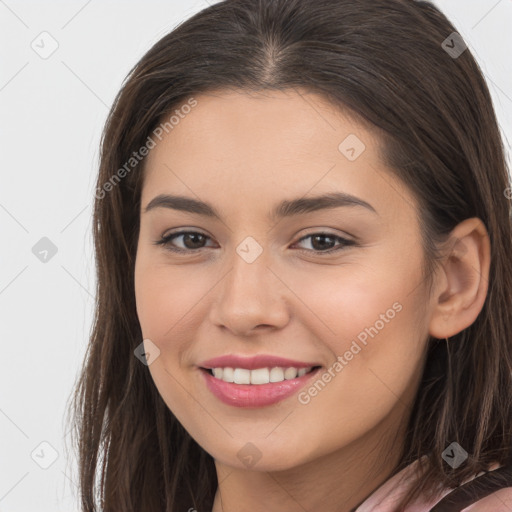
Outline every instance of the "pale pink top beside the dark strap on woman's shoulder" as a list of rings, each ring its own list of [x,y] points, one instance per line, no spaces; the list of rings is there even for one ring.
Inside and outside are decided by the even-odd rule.
[[[376,489],[359,507],[356,512],[396,512],[394,506],[399,499],[403,497],[405,492],[414,482],[414,473],[418,461],[413,462],[399,473],[392,476]],[[491,466],[490,470],[499,468],[499,464]],[[476,476],[483,475],[482,471]],[[473,477],[476,478],[476,477]],[[463,484],[473,480],[468,478]],[[403,480],[402,480],[403,479]],[[429,512],[429,510],[447,494],[453,491],[453,488],[444,488],[437,498],[427,501],[418,498],[406,507],[406,512]],[[470,505],[462,510],[462,512],[511,512],[512,511],[512,487],[500,489],[478,502]]]

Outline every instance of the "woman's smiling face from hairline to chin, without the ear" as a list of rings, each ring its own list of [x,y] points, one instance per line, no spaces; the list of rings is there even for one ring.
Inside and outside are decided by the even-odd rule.
[[[160,395],[238,468],[245,454],[292,468],[393,430],[417,389],[429,304],[417,205],[377,136],[305,91],[195,99],[151,150],[141,198],[135,293]],[[213,365],[238,367],[223,375],[239,383],[202,369],[233,355],[320,368]],[[251,373],[276,382],[243,384]]]

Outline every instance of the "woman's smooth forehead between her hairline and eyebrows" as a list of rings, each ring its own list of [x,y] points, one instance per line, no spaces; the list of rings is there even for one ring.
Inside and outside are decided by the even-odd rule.
[[[214,91],[194,99],[148,155],[143,205],[162,192],[276,203],[342,191],[395,215],[414,203],[385,169],[377,135],[318,94]]]

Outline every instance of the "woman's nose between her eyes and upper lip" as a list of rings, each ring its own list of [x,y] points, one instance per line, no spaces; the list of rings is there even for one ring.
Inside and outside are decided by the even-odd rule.
[[[274,270],[264,250],[249,263],[235,252],[232,266],[217,284],[210,321],[236,336],[254,330],[283,328],[289,321],[288,288]]]

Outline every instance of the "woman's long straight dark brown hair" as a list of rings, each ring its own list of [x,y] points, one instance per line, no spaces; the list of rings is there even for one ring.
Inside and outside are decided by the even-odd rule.
[[[485,304],[449,344],[428,340],[395,472],[429,456],[412,499],[438,484],[459,485],[493,462],[512,463],[510,183],[482,72],[468,49],[455,56],[443,43],[452,36],[455,45],[453,32],[425,1],[226,0],[181,23],[130,71],[102,137],[96,309],[70,408],[85,512],[211,510],[212,457],[134,357],[142,342],[134,263],[141,148],[180,105],[230,88],[309,90],[377,130],[384,162],[420,204],[425,283],[439,243],[464,219],[482,219],[491,242]],[[457,469],[441,456],[453,441],[470,454]]]

